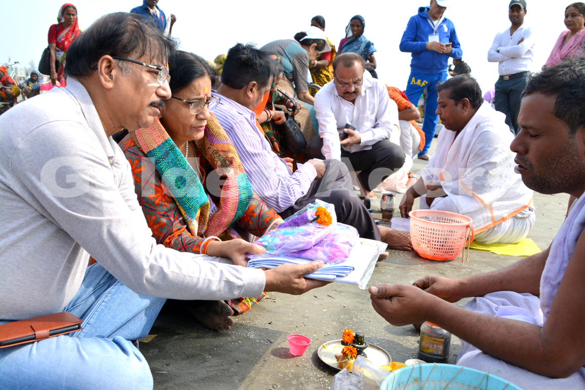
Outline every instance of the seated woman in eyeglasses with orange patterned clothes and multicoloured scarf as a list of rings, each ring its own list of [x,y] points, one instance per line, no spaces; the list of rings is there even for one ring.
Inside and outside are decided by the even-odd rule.
[[[207,62],[177,51],[169,68],[172,96],[160,120],[120,142],[138,201],[157,243],[245,267],[246,254],[262,249],[242,237],[262,236],[282,219],[254,194],[238,153],[212,114],[219,99],[211,96],[215,75]],[[202,325],[229,330],[230,316],[259,298],[180,302]]]

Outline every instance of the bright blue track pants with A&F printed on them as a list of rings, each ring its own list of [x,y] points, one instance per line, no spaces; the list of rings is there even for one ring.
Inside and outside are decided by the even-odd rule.
[[[437,122],[439,122],[439,116],[436,114],[439,104],[437,103],[438,94],[435,91],[435,86],[445,80],[447,80],[446,71],[437,74],[411,72],[408,76],[408,85],[404,93],[415,106],[418,105],[418,99],[421,98],[422,91],[426,88],[425,121],[422,123],[422,132],[425,133],[425,147],[418,154],[419,156],[429,153],[431,142],[435,136]]]

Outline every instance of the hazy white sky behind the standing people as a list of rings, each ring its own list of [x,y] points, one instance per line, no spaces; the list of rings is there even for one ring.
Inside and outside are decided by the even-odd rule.
[[[3,10],[17,9],[23,17],[2,18],[4,37],[0,47],[0,63],[19,61],[27,66],[32,59],[38,63],[47,46],[49,26],[56,23],[61,1],[0,0]],[[537,34],[533,71],[545,63],[560,32],[565,30],[565,7],[572,1],[527,0],[526,25]],[[256,42],[259,46],[277,39],[292,38],[307,29],[311,18],[323,15],[325,33],[338,46],[345,36],[349,19],[360,14],[366,19],[364,34],[376,49],[378,75],[388,85],[404,89],[410,71],[411,56],[401,53],[398,44],[408,19],[418,6],[429,1],[271,1],[247,3],[242,0],[192,1],[160,0],[160,8],[174,13],[177,23],[173,36],[180,40],[182,50],[213,60],[237,42]],[[81,29],[108,12],[130,11],[142,0],[75,0]],[[247,7],[246,4],[252,4]],[[487,50],[495,33],[510,26],[509,0],[452,0],[446,17],[453,20],[463,49],[463,60],[472,68],[481,88],[486,91],[497,80],[497,64],[487,62]]]

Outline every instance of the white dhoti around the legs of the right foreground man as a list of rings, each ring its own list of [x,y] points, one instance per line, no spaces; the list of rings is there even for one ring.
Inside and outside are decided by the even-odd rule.
[[[511,291],[494,292],[481,298],[473,298],[465,305],[465,308],[490,316],[520,320],[539,326],[543,324],[540,301],[531,294],[518,294]],[[461,350],[457,356],[457,365],[491,372],[524,390],[585,389],[583,368],[567,378],[544,377],[491,357],[463,340],[461,340]]]

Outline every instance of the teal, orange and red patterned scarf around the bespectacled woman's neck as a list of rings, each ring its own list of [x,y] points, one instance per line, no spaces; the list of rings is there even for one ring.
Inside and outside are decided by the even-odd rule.
[[[219,195],[218,210],[209,218],[209,199],[199,176],[176,144],[168,136],[159,118],[151,126],[130,132],[140,149],[154,160],[168,194],[177,202],[187,227],[194,236],[219,236],[246,211],[253,196],[242,162],[213,114],[205,127],[205,135],[195,141],[202,153],[201,164],[213,167],[225,178]]]

